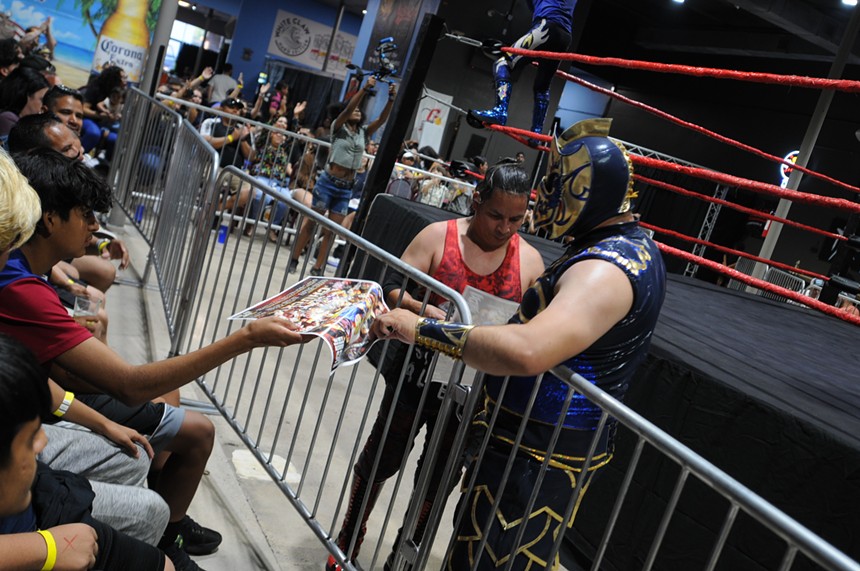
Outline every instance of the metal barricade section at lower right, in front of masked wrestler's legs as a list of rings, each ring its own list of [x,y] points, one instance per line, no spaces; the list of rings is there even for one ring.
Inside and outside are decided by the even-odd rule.
[[[595,387],[591,382],[562,367],[553,369],[552,373],[568,384],[568,393],[566,396],[567,400],[565,401],[565,407],[571,406],[573,396],[575,394],[579,394],[587,398],[590,403],[597,405],[600,410],[600,419],[597,423],[596,429],[591,431],[594,433],[594,436],[590,438],[590,444],[587,446],[587,453],[582,458],[577,459],[581,462],[579,462],[579,470],[577,470],[576,483],[567,483],[567,485],[572,487],[573,489],[569,490],[569,492],[565,495],[566,508],[561,514],[555,514],[555,512],[553,512],[554,515],[558,516],[560,529],[567,529],[569,522],[572,522],[574,520],[576,510],[578,509],[578,506],[582,501],[582,497],[588,487],[588,483],[590,482],[589,477],[582,477],[581,474],[586,474],[589,472],[589,470],[599,467],[598,464],[606,462],[605,458],[596,455],[596,451],[598,449],[598,441],[602,437],[604,437],[607,432],[612,433],[615,431],[614,428],[611,428],[611,425],[613,423],[617,423],[619,432],[623,428],[624,430],[629,431],[631,433],[629,435],[625,434],[625,436],[632,436],[636,440],[635,445],[632,446],[634,451],[631,456],[630,463],[627,467],[627,471],[624,475],[623,481],[619,489],[617,490],[617,494],[615,496],[615,503],[612,506],[612,510],[609,514],[606,527],[604,528],[602,537],[600,539],[600,543],[595,546],[595,556],[591,561],[590,569],[602,569],[604,563],[606,563],[604,561],[604,556],[607,553],[607,548],[611,545],[613,532],[615,531],[615,525],[618,522],[619,514],[621,513],[622,509],[625,508],[627,492],[630,489],[632,482],[634,481],[634,475],[640,465],[640,460],[643,457],[643,450],[646,450],[645,447],[646,445],[648,445],[651,449],[653,449],[653,452],[661,455],[662,457],[665,457],[670,462],[673,462],[675,465],[677,465],[678,474],[677,478],[675,479],[674,487],[671,490],[671,494],[665,500],[666,508],[662,514],[662,518],[660,519],[659,526],[656,529],[648,530],[649,536],[653,533],[653,539],[650,543],[650,549],[648,550],[647,558],[644,562],[642,562],[641,567],[638,568],[650,570],[652,568],[655,568],[655,565],[656,568],[660,568],[660,563],[658,562],[660,549],[664,543],[664,540],[667,537],[667,534],[671,533],[671,531],[669,530],[670,522],[672,521],[673,515],[675,515],[676,513],[681,494],[685,489],[689,489],[691,487],[689,484],[692,481],[697,481],[700,484],[704,484],[705,486],[713,490],[720,497],[724,498],[727,504],[727,509],[725,513],[725,518],[722,522],[722,526],[719,527],[718,530],[715,526],[715,533],[712,536],[709,536],[712,539],[710,550],[701,554],[696,554],[696,556],[693,557],[694,559],[703,563],[701,567],[695,568],[706,569],[708,571],[717,568],[717,565],[720,562],[720,556],[723,553],[724,547],[726,545],[726,540],[729,537],[729,534],[732,532],[733,526],[735,525],[735,523],[737,523],[739,514],[743,513],[760,522],[769,532],[773,533],[776,540],[781,540],[782,542],[784,542],[785,549],[781,555],[778,567],[778,569],[782,571],[792,568],[799,553],[803,554],[812,562],[821,565],[823,568],[828,570],[860,571],[860,564],[858,564],[856,561],[850,559],[844,553],[837,550],[826,541],[822,540],[820,537],[806,529],[797,521],[787,516],[785,513],[762,499],[756,493],[734,480],[731,476],[721,471],[716,466],[690,450],[688,447],[684,446],[683,444],[666,434],[660,428],[656,427],[621,402],[617,401],[616,399],[613,399],[607,393]],[[505,379],[503,381],[502,388],[500,389],[501,394],[504,394],[504,391],[506,390],[506,385],[509,380],[510,379]],[[478,383],[476,382],[476,385],[477,384]],[[532,406],[534,405],[535,398],[537,396],[538,387],[539,383],[535,383],[535,390],[532,392],[531,398],[528,403],[524,406],[523,415],[526,419],[531,414]],[[472,391],[472,393],[469,395],[469,400],[480,400],[480,392],[481,391],[477,390]],[[501,399],[502,397],[499,398]],[[562,410],[566,409],[563,407]],[[479,452],[475,456],[474,463],[472,464],[472,466],[470,466],[470,471],[472,473],[477,473],[481,463],[484,462],[486,459],[489,442],[493,439],[492,435],[496,430],[495,425],[497,417],[499,415],[499,408],[489,408],[485,412],[486,416],[483,418],[487,419],[487,429],[481,440]],[[470,548],[470,553],[474,556],[475,561],[477,561],[480,558],[481,554],[487,549],[500,549],[499,546],[487,545],[486,533],[489,530],[490,526],[494,524],[499,525],[500,522],[502,525],[507,525],[506,522],[510,522],[514,525],[514,529],[516,529],[516,525],[519,525],[520,522],[528,521],[530,515],[535,515],[534,513],[532,513],[532,510],[535,509],[538,492],[544,482],[544,477],[547,474],[547,469],[550,465],[550,457],[554,453],[554,451],[557,450],[557,446],[559,445],[561,439],[565,438],[565,436],[562,436],[562,433],[582,432],[565,431],[564,429],[562,429],[561,423],[557,423],[555,428],[552,430],[551,435],[548,435],[545,441],[545,448],[543,449],[543,451],[540,452],[541,454],[544,454],[544,460],[541,465],[541,472],[540,475],[537,477],[536,482],[534,482],[534,490],[532,491],[528,502],[524,506],[524,509],[522,510],[522,512],[508,512],[504,514],[497,513],[496,510],[499,505],[499,499],[502,497],[506,486],[508,486],[509,484],[520,486],[523,485],[522,482],[515,482],[517,474],[514,474],[512,472],[512,468],[514,465],[514,460],[524,454],[524,449],[520,448],[520,445],[524,442],[524,433],[526,431],[525,426],[526,421],[523,421],[519,428],[515,429],[516,437],[511,438],[508,443],[510,453],[506,453],[507,464],[501,471],[498,486],[494,489],[486,490],[486,494],[490,498],[489,501],[493,503],[489,516],[486,519],[477,518],[474,511],[468,511],[471,507],[470,502],[461,502],[461,505],[458,507],[455,516],[455,529],[457,529],[457,526],[464,518],[470,518],[469,523],[473,524],[476,528],[481,530],[481,533],[475,534],[474,544]],[[468,430],[469,427],[467,426],[467,423],[463,423],[463,426],[461,427],[460,431],[462,433],[465,433]],[[509,435],[510,430],[511,427],[508,426],[505,431],[505,434]],[[512,484],[512,482],[515,483]],[[463,493],[466,497],[468,497],[468,495],[474,491],[474,486],[474,477],[470,479],[469,472],[467,472],[467,475],[464,478],[463,482]],[[434,517],[431,519],[430,528],[432,528],[432,525],[438,521],[438,519],[436,519],[436,516],[438,516],[438,513],[434,512]],[[504,517],[503,520],[500,519],[502,517]],[[549,520],[549,518],[547,519]],[[524,530],[525,525],[520,525],[519,527]],[[461,534],[461,537],[463,537],[464,532],[462,529],[459,531],[459,533]],[[553,551],[552,555],[549,558],[549,561],[552,561],[552,559],[558,553],[561,547],[563,536],[564,534],[560,533],[554,537]],[[450,538],[447,554],[450,554],[454,541],[455,535],[452,535]],[[511,558],[508,562],[508,565],[505,565],[504,556],[506,554],[516,552],[522,547],[527,546],[525,545],[525,539],[521,531],[513,544],[505,545],[503,552],[496,551],[494,553],[494,557],[497,557],[499,559],[499,568],[510,569],[511,564],[513,563],[513,559]],[[624,549],[625,547],[629,548],[629,545],[625,544],[624,546],[622,546],[622,549]],[[685,555],[689,556],[689,552],[691,552],[692,549],[692,547],[686,546],[687,553],[685,553]],[[409,567],[403,566],[403,564],[406,562],[414,562],[414,568],[416,569],[424,568],[424,564],[426,563],[426,553],[419,551],[417,555],[413,554],[412,557],[414,557],[414,559],[410,557],[409,550],[401,551],[395,562],[396,564],[392,566],[392,569],[408,569]],[[677,565],[678,563],[675,562],[673,564]],[[446,567],[446,569],[447,568],[449,567]],[[475,566],[472,567],[472,569],[475,568]],[[463,569],[465,569],[465,567]]]

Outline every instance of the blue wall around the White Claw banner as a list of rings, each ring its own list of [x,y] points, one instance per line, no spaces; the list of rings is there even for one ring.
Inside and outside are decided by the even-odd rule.
[[[209,1],[211,0],[207,0],[207,2]],[[229,2],[229,0],[218,1],[225,4]],[[233,77],[238,77],[239,72],[245,74],[247,88],[243,95],[246,99],[253,97],[256,89],[254,79],[266,67],[266,53],[278,10],[285,10],[332,27],[337,21],[337,9],[316,2],[262,0],[259,2],[241,2],[240,4],[241,9],[236,23],[236,32],[233,34],[233,43],[227,54],[227,61],[233,64]],[[340,29],[357,36],[361,28],[361,21],[362,18],[359,16],[348,12],[344,13]],[[360,46],[361,43],[359,42],[356,49],[358,50]],[[242,54],[246,48],[253,50],[249,61],[242,59]]]

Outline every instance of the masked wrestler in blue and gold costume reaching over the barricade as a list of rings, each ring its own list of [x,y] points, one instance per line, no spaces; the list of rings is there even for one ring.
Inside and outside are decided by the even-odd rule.
[[[552,546],[563,533],[561,526],[572,525],[575,510],[569,521],[562,519],[576,484],[612,457],[614,425],[599,435],[589,472],[582,474],[600,409],[580,395],[565,408],[568,386],[554,375],[543,375],[530,410],[528,404],[537,377],[557,365],[623,398],[647,353],[663,303],[665,268],[656,245],[630,212],[632,168],[624,148],[608,138],[610,123],[582,121],[553,142],[535,222],[552,237],[572,241],[523,294],[507,325],[470,327],[402,309],[374,323],[374,333],[382,338],[432,347],[488,373],[474,428],[486,428],[499,408],[489,446],[464,478],[469,482],[474,474],[475,486],[460,499],[466,513],[448,569],[494,569],[511,557],[513,569],[557,568]],[[523,422],[519,449],[512,450]],[[560,438],[548,451],[559,423]],[[548,454],[549,468],[542,474]],[[513,468],[500,489],[509,461]],[[539,480],[537,500],[525,514]],[[486,547],[479,555],[488,522]],[[526,529],[517,542],[522,522]]]

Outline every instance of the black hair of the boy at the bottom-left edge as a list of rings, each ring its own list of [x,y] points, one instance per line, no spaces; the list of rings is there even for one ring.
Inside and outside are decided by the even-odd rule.
[[[0,467],[9,464],[12,440],[34,418],[51,414],[48,375],[19,341],[0,333]]]

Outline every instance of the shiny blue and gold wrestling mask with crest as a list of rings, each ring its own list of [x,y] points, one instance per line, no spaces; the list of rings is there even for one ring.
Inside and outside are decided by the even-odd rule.
[[[633,166],[624,147],[609,138],[611,124],[611,119],[580,121],[550,144],[535,225],[551,238],[582,236],[630,210]]]

